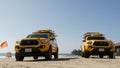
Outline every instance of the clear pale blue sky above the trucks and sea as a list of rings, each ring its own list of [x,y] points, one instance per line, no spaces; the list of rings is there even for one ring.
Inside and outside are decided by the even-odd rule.
[[[80,49],[86,32],[101,32],[120,42],[119,0],[0,0],[1,52],[14,52],[14,44],[41,29],[55,31],[60,52]]]

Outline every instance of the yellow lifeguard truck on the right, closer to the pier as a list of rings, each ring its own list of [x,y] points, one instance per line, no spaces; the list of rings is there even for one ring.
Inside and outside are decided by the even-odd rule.
[[[100,58],[108,55],[109,58],[114,58],[115,45],[111,40],[104,37],[99,32],[87,32],[83,37],[81,46],[82,57],[89,58],[90,55],[99,55]]]

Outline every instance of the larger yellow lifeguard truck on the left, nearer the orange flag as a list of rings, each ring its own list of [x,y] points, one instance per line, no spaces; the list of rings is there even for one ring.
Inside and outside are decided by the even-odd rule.
[[[20,39],[15,44],[16,61],[23,61],[27,56],[33,56],[34,59],[44,56],[46,60],[50,60],[54,55],[54,58],[58,59],[58,45],[55,37],[52,30],[38,30]]]

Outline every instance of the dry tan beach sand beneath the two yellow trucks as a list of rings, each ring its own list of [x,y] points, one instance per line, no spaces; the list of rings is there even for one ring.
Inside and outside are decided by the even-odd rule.
[[[57,60],[45,61],[43,58],[33,60],[25,57],[23,61],[15,61],[14,58],[1,58],[0,68],[120,68],[120,57],[109,58],[82,58],[61,57]]]

